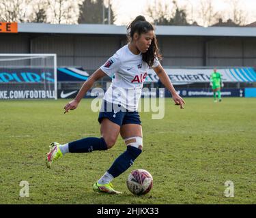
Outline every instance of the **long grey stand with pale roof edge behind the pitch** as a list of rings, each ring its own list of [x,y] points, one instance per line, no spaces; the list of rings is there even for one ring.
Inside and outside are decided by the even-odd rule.
[[[162,65],[166,68],[191,70],[256,66],[254,27],[156,26],[156,35],[163,56]],[[1,53],[54,53],[57,54],[57,67],[76,67],[89,74],[126,43],[126,27],[115,25],[20,23],[18,33],[0,34]],[[96,85],[105,88],[109,80],[106,77]],[[157,87],[157,82],[155,84]],[[254,85],[251,80],[238,80],[226,87]],[[58,85],[59,89],[63,86],[65,89],[78,88],[81,80]],[[180,83],[179,87],[207,89],[209,83],[186,82]]]

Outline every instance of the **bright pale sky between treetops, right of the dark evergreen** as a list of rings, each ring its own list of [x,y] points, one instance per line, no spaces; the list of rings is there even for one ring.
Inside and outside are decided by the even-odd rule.
[[[105,0],[106,2],[108,0]],[[171,2],[171,0],[111,0],[113,9],[116,12],[115,25],[127,25],[128,22],[133,20],[137,15],[146,15],[146,8],[148,5],[154,5],[156,2]],[[176,0],[178,5],[184,6],[188,10],[188,18],[197,18],[197,9],[200,5],[200,0]],[[227,11],[230,5],[227,4],[228,0],[212,0],[214,7],[218,11]],[[240,7],[246,11],[247,22],[256,21],[256,0],[240,0]],[[200,23],[199,20],[197,22]]]

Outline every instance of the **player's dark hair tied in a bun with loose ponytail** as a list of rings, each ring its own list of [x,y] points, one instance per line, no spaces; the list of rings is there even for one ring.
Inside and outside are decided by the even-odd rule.
[[[150,22],[147,22],[144,16],[137,16],[127,27],[128,42],[132,41],[134,33],[138,33],[140,36],[141,33],[147,33],[148,31],[152,30],[154,30],[153,25]],[[158,60],[162,59],[158,50],[156,36],[154,36],[150,48],[147,50],[147,52],[142,53],[142,60],[145,61],[147,65],[152,67],[156,57]]]

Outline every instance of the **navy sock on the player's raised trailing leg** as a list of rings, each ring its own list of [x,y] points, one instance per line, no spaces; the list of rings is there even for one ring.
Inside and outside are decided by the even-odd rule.
[[[106,149],[107,146],[104,138],[88,137],[68,143],[68,150],[70,153],[88,153]]]

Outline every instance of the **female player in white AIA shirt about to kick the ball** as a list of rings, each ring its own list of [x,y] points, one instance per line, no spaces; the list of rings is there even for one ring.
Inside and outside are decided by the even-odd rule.
[[[51,168],[51,163],[66,153],[111,149],[120,133],[127,145],[126,151],[115,159],[109,170],[93,185],[94,191],[105,193],[121,193],[113,189],[111,181],[126,171],[142,152],[142,128],[137,109],[149,67],[154,69],[162,84],[171,92],[175,104],[180,105],[181,109],[185,104],[158,61],[160,55],[154,27],[143,16],[137,16],[127,30],[129,43],[97,69],[85,81],[76,97],[64,107],[64,113],[76,109],[96,80],[106,75],[112,77],[98,117],[101,138],[82,138],[67,144],[53,142],[46,157],[47,166]]]

